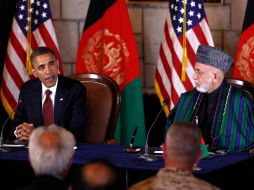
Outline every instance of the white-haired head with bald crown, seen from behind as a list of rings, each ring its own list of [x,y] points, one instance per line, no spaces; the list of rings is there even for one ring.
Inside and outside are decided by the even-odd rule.
[[[29,160],[35,175],[64,178],[71,165],[75,139],[71,132],[56,125],[38,127],[29,139]]]

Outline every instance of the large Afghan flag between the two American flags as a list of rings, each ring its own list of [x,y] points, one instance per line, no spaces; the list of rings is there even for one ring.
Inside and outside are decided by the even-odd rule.
[[[77,73],[113,78],[121,91],[115,138],[145,144],[145,121],[138,52],[125,0],[91,0],[77,53]]]

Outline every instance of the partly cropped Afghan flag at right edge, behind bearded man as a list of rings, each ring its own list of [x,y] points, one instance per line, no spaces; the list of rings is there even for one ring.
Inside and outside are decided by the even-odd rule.
[[[234,62],[234,78],[254,83],[254,1],[248,0]]]

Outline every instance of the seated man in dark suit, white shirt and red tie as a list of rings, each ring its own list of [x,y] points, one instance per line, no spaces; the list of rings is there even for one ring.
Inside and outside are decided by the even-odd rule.
[[[84,141],[84,85],[58,74],[59,62],[50,48],[39,47],[30,59],[35,79],[21,87],[14,116],[15,136],[19,140],[28,140],[34,128],[55,123],[70,130],[78,142]]]

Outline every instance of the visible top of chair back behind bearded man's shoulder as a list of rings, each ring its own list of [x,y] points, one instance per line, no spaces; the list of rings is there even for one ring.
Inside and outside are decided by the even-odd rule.
[[[228,78],[227,82],[233,86],[241,88],[252,101],[254,101],[254,85],[243,80]]]

